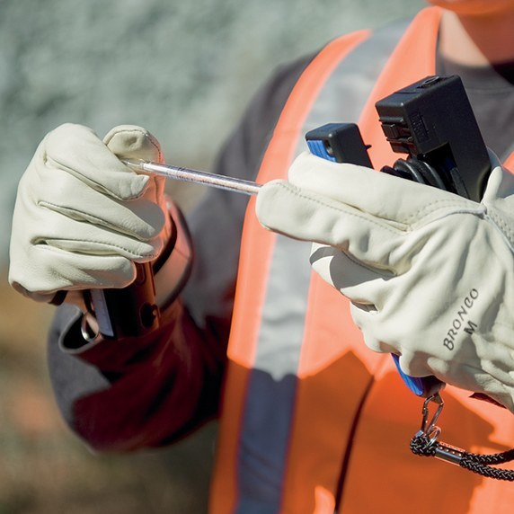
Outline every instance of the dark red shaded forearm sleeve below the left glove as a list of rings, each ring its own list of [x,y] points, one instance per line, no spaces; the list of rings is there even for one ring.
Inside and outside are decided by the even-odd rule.
[[[69,353],[66,347],[80,338],[79,317],[59,323],[69,322],[70,309],[61,307],[50,332],[58,341],[58,348],[50,347],[52,381],[66,421],[89,446],[163,446],[216,417],[226,321],[211,319],[200,331],[175,302],[150,337],[101,341]]]

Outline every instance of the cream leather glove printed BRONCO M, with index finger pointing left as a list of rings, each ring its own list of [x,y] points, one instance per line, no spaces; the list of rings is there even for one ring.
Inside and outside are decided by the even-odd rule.
[[[482,203],[307,154],[288,178],[261,188],[257,216],[315,242],[368,347],[514,412],[514,177],[493,163]]]

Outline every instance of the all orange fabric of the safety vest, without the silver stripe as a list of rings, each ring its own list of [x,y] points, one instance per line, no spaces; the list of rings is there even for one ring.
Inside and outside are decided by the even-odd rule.
[[[405,32],[383,70],[359,120],[371,144],[376,168],[398,157],[384,137],[375,102],[435,70],[439,8],[421,12]],[[285,177],[303,121],[316,95],[341,58],[368,37],[359,32],[327,47],[300,77],[264,156],[259,182]],[[344,120],[341,120],[344,121]],[[514,157],[511,160],[514,163]],[[234,510],[236,451],[245,387],[253,366],[265,277],[275,235],[247,212],[229,344],[224,411],[221,417],[211,512]],[[360,398],[366,396],[365,403]],[[441,416],[442,439],[469,451],[491,453],[510,448],[510,412],[471,400],[448,387]],[[342,486],[344,513],[510,512],[514,487],[486,480],[436,459],[413,456],[408,445],[421,423],[420,398],[404,385],[388,355],[369,351],[350,319],[348,302],[313,275],[305,340],[298,369],[295,417],[288,448],[281,512],[332,514]],[[357,418],[356,418],[356,415]],[[356,426],[352,424],[358,419]],[[347,445],[351,453],[347,453]],[[483,447],[473,446],[483,441]],[[345,468],[344,483],[339,484]]]

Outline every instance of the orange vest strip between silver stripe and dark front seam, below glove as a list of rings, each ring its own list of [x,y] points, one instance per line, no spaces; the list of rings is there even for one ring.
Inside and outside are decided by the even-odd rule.
[[[332,514],[359,403],[386,357],[366,348],[348,302],[313,276],[288,449],[283,501],[288,511]],[[322,497],[315,494],[320,489]]]

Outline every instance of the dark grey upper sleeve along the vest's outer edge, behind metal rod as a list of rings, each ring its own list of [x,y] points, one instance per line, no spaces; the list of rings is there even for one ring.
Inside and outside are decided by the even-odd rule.
[[[223,147],[215,173],[255,180],[279,114],[311,58],[280,67],[257,93]],[[248,197],[209,189],[189,217],[195,263],[182,297],[199,326],[232,313],[235,278]]]

